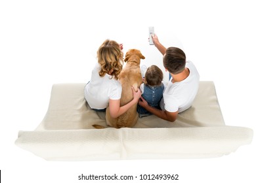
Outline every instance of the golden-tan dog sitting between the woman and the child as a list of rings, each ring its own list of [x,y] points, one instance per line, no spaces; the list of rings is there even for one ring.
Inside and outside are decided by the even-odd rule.
[[[137,92],[142,83],[142,76],[140,73],[140,59],[145,59],[140,50],[131,49],[125,54],[126,65],[119,74],[119,82],[122,86],[122,93],[120,99],[120,106],[129,103],[133,99],[133,91],[131,86]],[[138,120],[137,104],[133,105],[127,112],[118,118],[110,116],[109,107],[106,108],[106,124],[111,127],[133,127]],[[95,128],[104,128],[100,125],[93,125]]]

